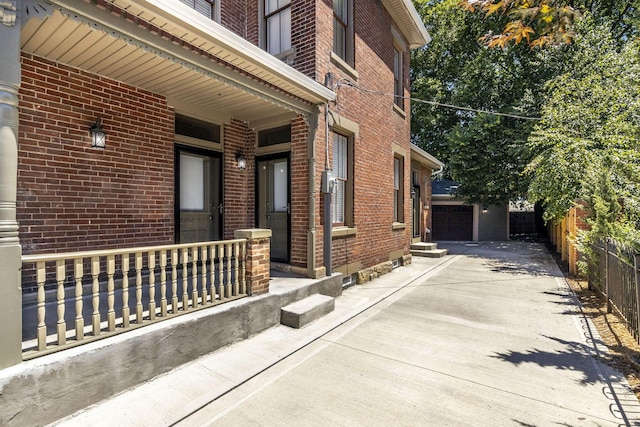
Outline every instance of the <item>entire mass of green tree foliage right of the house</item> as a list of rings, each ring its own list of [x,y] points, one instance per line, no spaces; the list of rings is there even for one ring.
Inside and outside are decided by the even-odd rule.
[[[430,101],[412,103],[413,142],[445,162],[469,202],[526,197],[557,220],[582,200],[587,239],[640,241],[640,0],[496,1],[470,13],[458,0],[415,0],[433,42],[412,56],[412,96]],[[561,34],[545,5],[580,11],[562,33],[571,44],[533,43]],[[502,49],[482,43],[515,28],[524,6],[539,8],[521,16],[534,32],[494,43]]]

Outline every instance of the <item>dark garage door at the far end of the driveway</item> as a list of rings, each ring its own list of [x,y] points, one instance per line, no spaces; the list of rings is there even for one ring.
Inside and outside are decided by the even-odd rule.
[[[473,206],[433,206],[433,240],[473,240]]]

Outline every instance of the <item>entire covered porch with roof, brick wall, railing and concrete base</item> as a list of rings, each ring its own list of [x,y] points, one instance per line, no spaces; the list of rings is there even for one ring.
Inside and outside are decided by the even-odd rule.
[[[274,325],[291,301],[340,292],[339,275],[270,278],[271,237],[255,230],[256,158],[273,155],[257,135],[288,124],[305,185],[286,212],[308,218],[298,271],[318,276],[306,147],[332,91],[180,2],[0,11],[3,416],[54,420]],[[181,185],[181,153],[199,159],[183,171],[215,160],[191,177],[215,173],[218,193]],[[219,221],[210,238],[183,233],[198,210]],[[35,330],[23,335],[27,288]]]

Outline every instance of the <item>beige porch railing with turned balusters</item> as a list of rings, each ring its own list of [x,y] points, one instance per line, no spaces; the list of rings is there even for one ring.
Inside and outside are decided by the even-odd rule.
[[[245,239],[25,255],[23,359],[247,296]]]

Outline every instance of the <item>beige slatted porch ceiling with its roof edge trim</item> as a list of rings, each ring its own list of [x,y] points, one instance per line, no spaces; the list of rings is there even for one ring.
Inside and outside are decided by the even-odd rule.
[[[172,7],[186,16],[182,19],[201,23],[195,11],[186,6],[184,10],[178,1],[170,3],[177,3]],[[178,26],[173,15],[172,21],[131,3],[105,7],[62,0],[38,6],[40,10],[25,10],[29,19],[21,30],[24,52],[164,95],[177,111],[225,122],[235,117],[251,124],[310,112],[314,104],[325,102],[323,96],[332,94],[291,67],[275,63],[276,68],[265,69],[260,58],[251,60],[225,49],[215,35],[198,34],[187,24]],[[151,15],[153,22],[146,19]],[[232,43],[248,44],[215,26]]]

